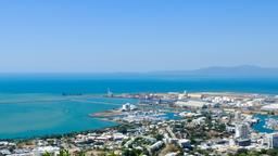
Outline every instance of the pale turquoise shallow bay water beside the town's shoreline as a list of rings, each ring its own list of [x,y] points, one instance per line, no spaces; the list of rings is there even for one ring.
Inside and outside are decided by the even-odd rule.
[[[20,95],[21,100],[15,100],[18,94],[8,96],[12,98],[8,104],[1,103],[1,100],[9,101],[5,98],[1,96],[0,100],[0,139],[61,134],[114,126],[114,122],[91,118],[88,115],[121,107],[126,102],[136,103],[135,100],[81,96],[65,99],[43,94],[39,94],[39,98],[37,94],[28,94],[26,99]],[[34,102],[26,102],[30,98],[35,99]],[[48,101],[43,102],[41,99]]]

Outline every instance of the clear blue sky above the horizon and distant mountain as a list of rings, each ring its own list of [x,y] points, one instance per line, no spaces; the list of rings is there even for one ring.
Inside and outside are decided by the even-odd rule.
[[[278,67],[276,0],[1,0],[0,72]]]

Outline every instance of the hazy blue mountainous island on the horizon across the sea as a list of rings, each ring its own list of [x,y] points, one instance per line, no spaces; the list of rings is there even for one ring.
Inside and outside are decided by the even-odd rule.
[[[156,76],[195,76],[195,77],[254,77],[254,78],[278,78],[278,68],[265,68],[258,66],[235,66],[235,67],[207,67],[195,70],[155,72],[149,73]]]

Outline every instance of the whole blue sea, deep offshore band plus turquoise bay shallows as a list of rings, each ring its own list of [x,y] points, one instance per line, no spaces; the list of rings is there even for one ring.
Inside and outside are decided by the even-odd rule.
[[[278,79],[4,74],[0,75],[0,140],[65,134],[115,126],[115,122],[92,118],[89,114],[138,101],[102,98],[108,89],[113,93],[187,91],[276,95]],[[271,132],[265,130],[263,125],[257,125],[255,130]]]

